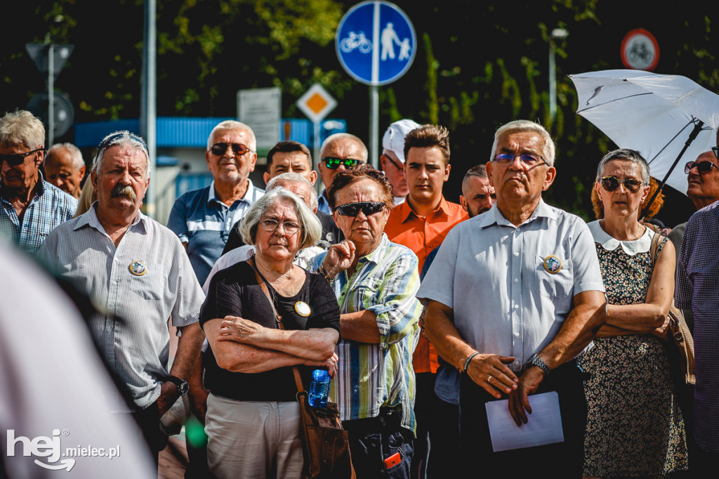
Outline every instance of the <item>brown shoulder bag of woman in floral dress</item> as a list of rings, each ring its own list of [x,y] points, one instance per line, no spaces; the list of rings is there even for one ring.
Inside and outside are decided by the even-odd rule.
[[[663,239],[662,239],[663,238]],[[651,266],[654,268],[656,257],[659,256],[659,241],[663,245],[667,242],[667,237],[661,234],[654,234],[651,239],[651,247],[649,253],[651,255]],[[678,367],[678,373],[685,384],[696,384],[697,378],[694,375],[694,338],[692,332],[684,320],[684,313],[681,309],[677,309],[672,298],[672,306],[669,306],[669,342],[674,345],[670,358],[674,357],[674,366]],[[678,362],[678,364],[677,364]]]

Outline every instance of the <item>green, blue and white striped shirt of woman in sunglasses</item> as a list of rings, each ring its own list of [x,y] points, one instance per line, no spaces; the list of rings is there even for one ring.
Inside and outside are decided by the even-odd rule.
[[[309,270],[317,270],[326,252],[313,258]],[[352,278],[344,271],[332,282],[340,314],[365,309],[377,314],[380,344],[342,339],[336,347],[337,374],[330,396],[342,420],[380,414],[380,407],[401,409],[401,425],[414,432],[414,370],[412,353],[419,339],[422,306],[417,257],[408,248],[382,235],[380,245],[359,258]]]

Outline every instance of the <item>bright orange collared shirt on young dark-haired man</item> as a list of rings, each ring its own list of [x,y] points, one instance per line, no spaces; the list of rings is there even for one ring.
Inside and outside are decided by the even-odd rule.
[[[469,217],[462,206],[449,203],[444,196],[441,197],[437,209],[426,217],[415,214],[405,201],[390,211],[385,233],[390,241],[405,245],[417,255],[418,268],[421,271],[427,255],[442,244],[449,230]],[[437,352],[423,334],[419,337],[417,349],[414,350],[412,363],[416,373],[436,373],[439,368]]]

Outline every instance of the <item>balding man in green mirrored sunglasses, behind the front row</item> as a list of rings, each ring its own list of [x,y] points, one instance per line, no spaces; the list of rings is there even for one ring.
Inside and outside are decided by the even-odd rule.
[[[322,178],[324,190],[319,195],[319,211],[332,214],[327,199],[327,189],[332,184],[338,171],[346,170],[360,163],[367,163],[367,147],[362,140],[349,133],[335,133],[327,137],[319,150],[320,160],[317,163],[319,177]]]

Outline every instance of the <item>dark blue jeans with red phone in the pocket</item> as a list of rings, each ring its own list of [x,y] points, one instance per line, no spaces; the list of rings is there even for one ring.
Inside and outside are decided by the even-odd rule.
[[[357,478],[409,479],[412,463],[413,434],[399,425],[398,413],[369,419],[342,422],[349,433],[349,451]],[[400,462],[390,468],[385,459],[400,455]]]

